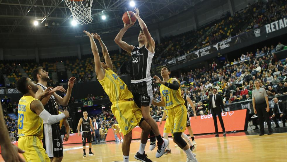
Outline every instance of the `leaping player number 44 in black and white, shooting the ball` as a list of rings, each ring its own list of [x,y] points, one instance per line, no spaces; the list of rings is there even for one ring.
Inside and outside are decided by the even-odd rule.
[[[124,25],[115,38],[115,42],[125,51],[131,54],[131,92],[134,95],[136,105],[141,108],[143,118],[151,125],[151,145],[150,150],[155,148],[156,139],[158,140],[158,151],[156,157],[159,158],[164,154],[165,148],[168,146],[168,140],[162,139],[156,121],[151,117],[149,110],[153,100],[153,81],[151,77],[151,62],[155,52],[155,42],[151,34],[139,16],[139,9],[135,8],[136,19],[139,21],[141,30],[139,32],[139,46],[135,47],[122,41],[124,33],[132,25]],[[156,137],[156,138],[155,138]]]

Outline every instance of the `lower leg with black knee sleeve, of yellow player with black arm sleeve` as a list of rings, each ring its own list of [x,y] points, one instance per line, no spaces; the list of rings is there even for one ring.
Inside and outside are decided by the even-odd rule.
[[[173,142],[175,142],[187,154],[187,162],[197,162],[195,154],[191,152],[189,145],[182,139],[181,132],[173,133]]]

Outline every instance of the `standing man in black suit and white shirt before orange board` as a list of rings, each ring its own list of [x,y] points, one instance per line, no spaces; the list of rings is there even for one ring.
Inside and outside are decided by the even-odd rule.
[[[217,94],[217,89],[212,89],[213,94],[209,96],[209,104],[208,104],[208,113],[212,113],[214,127],[215,127],[215,137],[218,137],[218,128],[217,128],[217,120],[216,115],[218,116],[223,136],[225,136],[225,128],[224,123],[221,117],[221,110],[223,111],[223,115],[225,114],[224,107],[223,107],[223,101],[221,95]]]

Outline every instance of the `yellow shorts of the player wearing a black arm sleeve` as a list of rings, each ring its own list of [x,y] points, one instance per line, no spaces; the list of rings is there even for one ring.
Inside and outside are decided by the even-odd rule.
[[[168,124],[170,126],[170,132],[173,137],[173,133],[184,132],[186,128],[187,110],[184,105],[178,105],[167,111]]]

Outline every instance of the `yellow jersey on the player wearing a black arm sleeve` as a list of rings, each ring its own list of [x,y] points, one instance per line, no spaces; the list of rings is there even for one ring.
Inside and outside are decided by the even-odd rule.
[[[173,78],[170,78],[168,80],[168,83],[172,83],[171,82],[172,79]],[[178,83],[180,82],[178,81]],[[163,96],[166,110],[172,109],[177,105],[185,103],[184,99],[181,96],[180,88],[178,90],[173,90],[166,87],[165,85],[160,85],[160,94]]]

